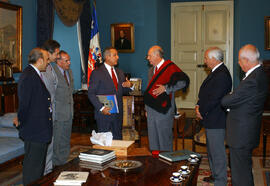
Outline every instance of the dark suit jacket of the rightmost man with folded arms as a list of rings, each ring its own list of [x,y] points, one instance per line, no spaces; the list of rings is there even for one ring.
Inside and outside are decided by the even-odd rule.
[[[230,109],[227,116],[227,144],[233,148],[255,148],[260,142],[261,118],[268,91],[262,66],[255,69],[239,86],[222,99]]]

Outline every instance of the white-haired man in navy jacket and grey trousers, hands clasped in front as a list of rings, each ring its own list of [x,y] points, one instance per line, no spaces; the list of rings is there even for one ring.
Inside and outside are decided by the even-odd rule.
[[[223,63],[223,52],[217,47],[206,50],[204,62],[211,73],[203,81],[199,100],[195,107],[197,119],[205,127],[206,145],[211,177],[204,181],[214,182],[215,186],[227,185],[227,163],[225,151],[226,110],[221,99],[231,91],[232,78]]]

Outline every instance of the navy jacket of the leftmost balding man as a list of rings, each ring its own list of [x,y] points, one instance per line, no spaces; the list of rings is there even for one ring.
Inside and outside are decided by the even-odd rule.
[[[19,135],[25,141],[47,143],[52,139],[51,97],[32,66],[27,66],[18,82]]]

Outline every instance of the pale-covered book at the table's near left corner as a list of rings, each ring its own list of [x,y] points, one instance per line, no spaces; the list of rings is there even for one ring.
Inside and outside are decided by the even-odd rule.
[[[87,180],[89,172],[63,171],[54,185],[82,185]]]

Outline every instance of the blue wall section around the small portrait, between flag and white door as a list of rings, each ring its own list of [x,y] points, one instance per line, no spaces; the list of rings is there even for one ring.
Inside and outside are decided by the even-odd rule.
[[[106,5],[106,6],[104,6]],[[110,25],[133,23],[135,52],[119,53],[119,68],[143,79],[142,89],[147,86],[148,61],[145,60],[152,45],[162,45],[170,56],[170,2],[168,0],[98,0],[97,17],[100,45],[111,46]],[[113,14],[112,14],[113,11]]]

